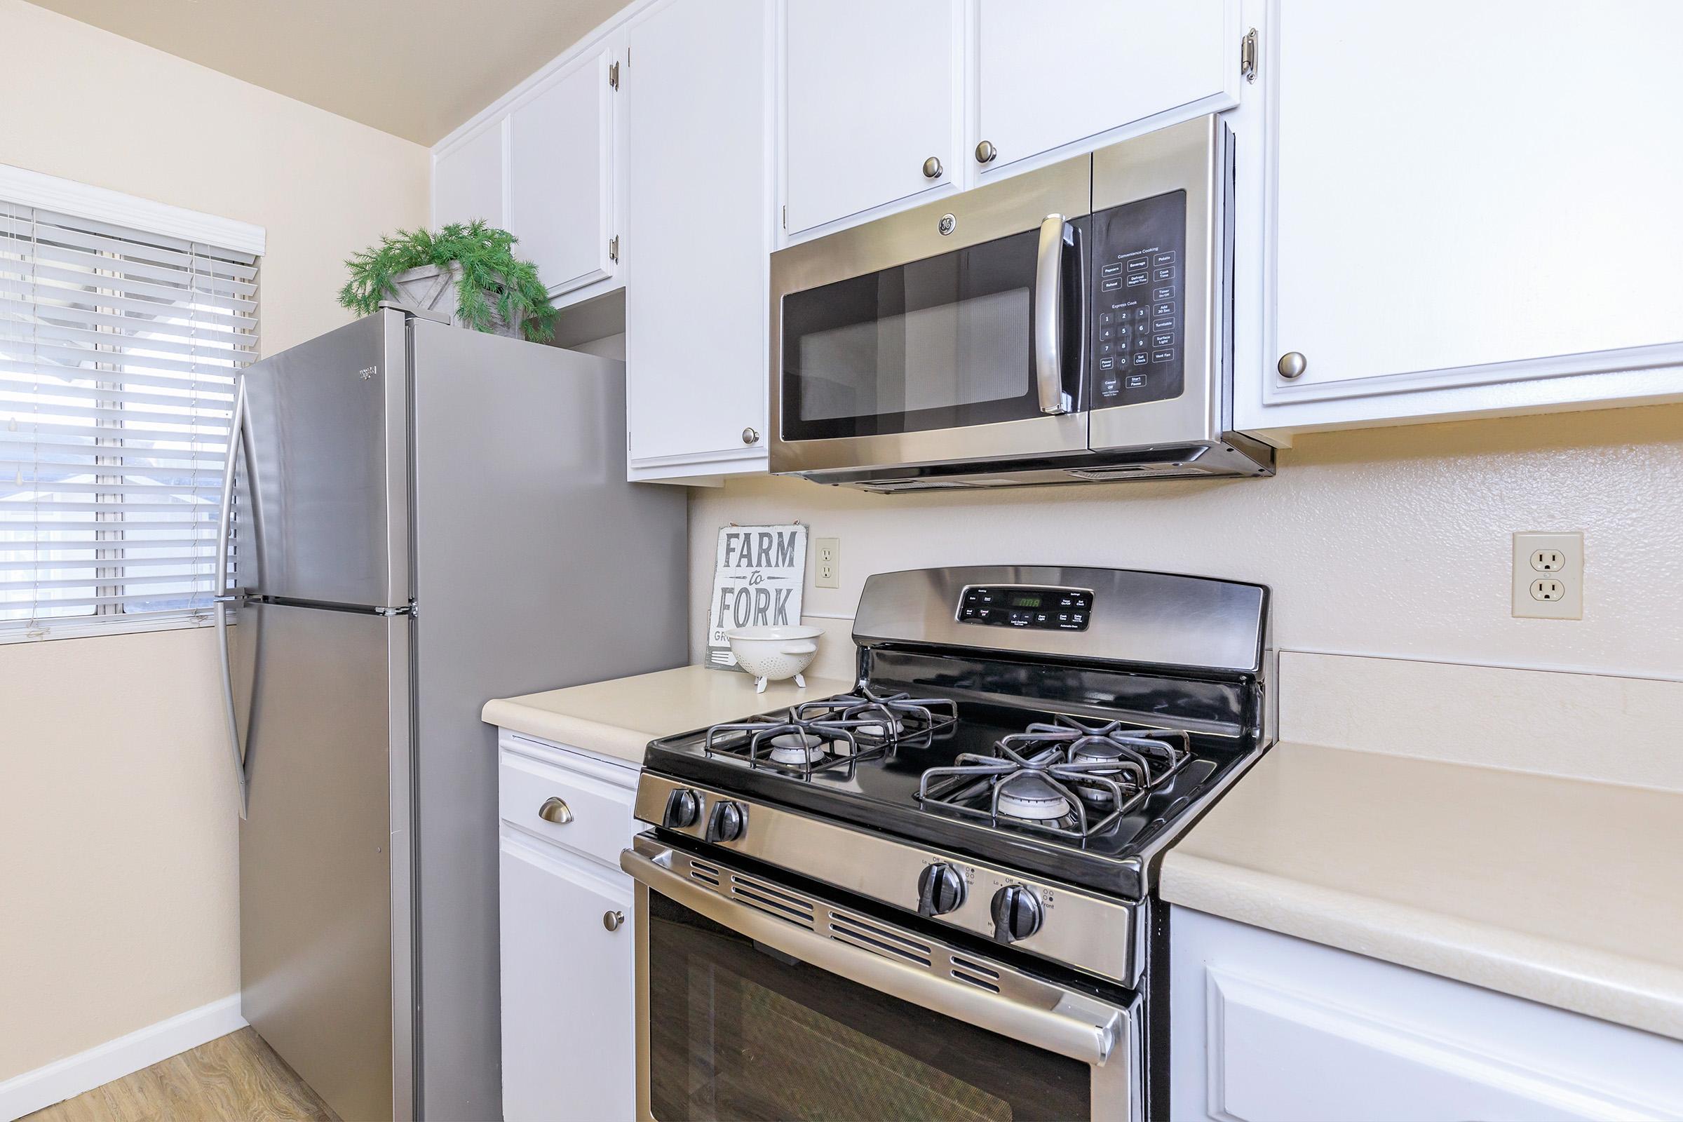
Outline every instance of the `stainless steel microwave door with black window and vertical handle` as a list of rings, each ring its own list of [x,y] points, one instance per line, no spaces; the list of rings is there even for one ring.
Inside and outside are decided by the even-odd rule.
[[[771,257],[771,469],[1082,453],[1079,156]]]

